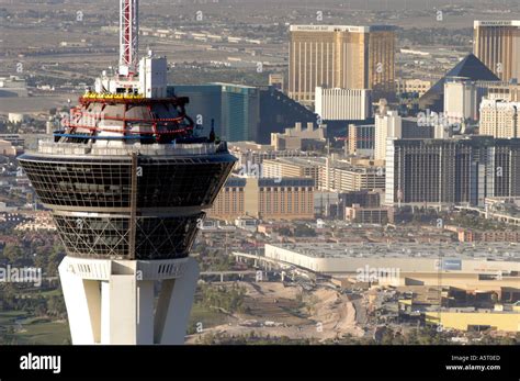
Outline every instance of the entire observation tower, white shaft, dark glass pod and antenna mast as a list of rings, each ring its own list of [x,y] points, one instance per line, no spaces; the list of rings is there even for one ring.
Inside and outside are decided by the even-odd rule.
[[[225,142],[194,135],[165,57],[137,64],[137,3],[121,0],[118,72],[19,158],[66,248],[75,345],[184,343],[199,278],[189,251],[236,161]]]

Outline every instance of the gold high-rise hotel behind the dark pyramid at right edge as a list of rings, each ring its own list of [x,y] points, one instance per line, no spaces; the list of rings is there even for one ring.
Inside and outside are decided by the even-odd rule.
[[[475,21],[473,53],[501,80],[520,79],[520,20]]]

